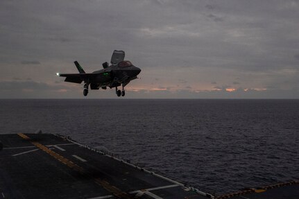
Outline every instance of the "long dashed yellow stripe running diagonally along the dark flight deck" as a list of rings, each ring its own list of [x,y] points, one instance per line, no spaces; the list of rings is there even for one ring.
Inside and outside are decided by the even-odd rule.
[[[24,135],[23,133],[19,133],[18,135],[19,135],[19,137],[22,137],[23,139],[26,139],[26,140],[30,139],[30,137]],[[65,165],[69,166],[70,168],[73,168],[75,171],[78,171],[81,175],[84,175],[88,178],[93,179],[96,184],[99,184],[101,187],[103,187],[107,191],[110,191],[114,196],[117,196],[117,198],[133,199],[133,197],[130,196],[130,194],[128,194],[124,191],[121,191],[121,189],[118,189],[117,187],[114,187],[112,184],[109,184],[109,182],[107,182],[105,180],[101,180],[99,178],[94,178],[87,171],[85,171],[84,168],[82,168],[81,166],[78,166],[74,162],[71,162],[69,159],[63,157],[62,155],[60,155],[58,153],[56,153],[55,151],[51,150],[50,148],[48,148],[48,147],[46,147],[46,146],[44,146],[44,145],[42,145],[42,144],[40,144],[36,141],[31,141],[31,143],[34,146],[36,146],[37,148],[40,148],[44,152],[48,153],[49,155],[51,155],[55,159],[58,159],[58,161],[62,162],[62,164],[65,164]]]

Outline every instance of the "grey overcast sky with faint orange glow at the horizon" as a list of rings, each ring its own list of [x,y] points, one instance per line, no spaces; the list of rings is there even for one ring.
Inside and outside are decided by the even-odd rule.
[[[83,98],[114,49],[126,98],[299,98],[299,1],[0,1],[0,98]],[[117,98],[114,89],[87,98]]]

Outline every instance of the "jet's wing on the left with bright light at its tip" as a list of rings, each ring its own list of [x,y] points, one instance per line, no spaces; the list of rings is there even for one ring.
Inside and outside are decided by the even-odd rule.
[[[83,81],[93,80],[95,78],[105,80],[110,78],[110,72],[102,73],[57,73],[60,77],[66,77],[65,82],[80,84]]]

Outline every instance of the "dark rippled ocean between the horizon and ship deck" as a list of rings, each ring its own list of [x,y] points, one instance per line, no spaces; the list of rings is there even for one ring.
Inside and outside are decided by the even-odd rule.
[[[299,100],[0,100],[0,134],[38,129],[210,193],[299,180]]]

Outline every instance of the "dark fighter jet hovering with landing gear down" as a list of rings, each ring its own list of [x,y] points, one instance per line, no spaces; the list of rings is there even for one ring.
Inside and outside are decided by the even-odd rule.
[[[132,62],[124,60],[125,52],[114,50],[110,65],[108,62],[104,62],[103,69],[94,71],[92,73],[85,73],[80,64],[74,62],[79,73],[56,73],[57,76],[66,77],[65,82],[69,83],[82,83],[84,81],[83,95],[87,96],[88,88],[90,89],[112,89],[115,87],[117,96],[125,96],[124,87],[130,83],[131,80],[135,80],[141,69],[135,67]],[[121,86],[122,89],[117,87]]]

